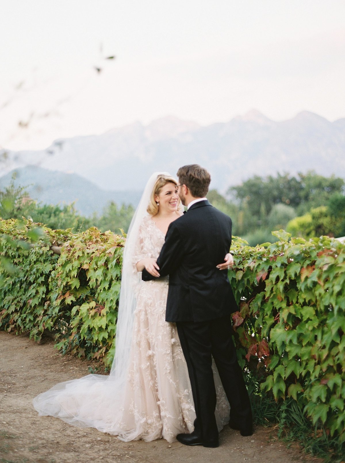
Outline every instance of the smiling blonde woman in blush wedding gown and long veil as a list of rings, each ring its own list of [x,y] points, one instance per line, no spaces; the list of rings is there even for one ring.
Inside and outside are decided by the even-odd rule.
[[[33,406],[71,425],[94,427],[124,441],[176,440],[192,432],[195,411],[176,326],[165,321],[168,277],[141,282],[144,267],[157,274],[156,258],[169,224],[182,215],[177,181],[154,173],[128,231],[123,254],[115,359],[110,375],[87,375],[39,394]],[[226,268],[231,263],[226,256]],[[218,429],[229,421],[216,367]]]

